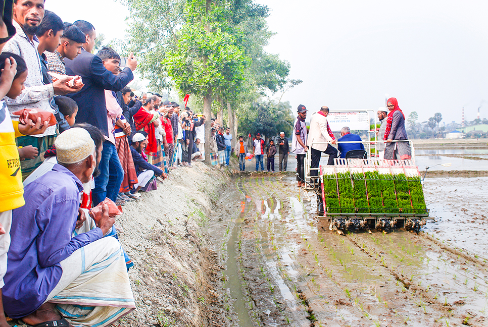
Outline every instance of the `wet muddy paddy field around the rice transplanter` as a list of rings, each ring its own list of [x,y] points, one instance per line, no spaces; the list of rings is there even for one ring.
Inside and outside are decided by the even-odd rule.
[[[294,177],[236,178],[209,223],[225,268],[225,324],[488,325],[486,182],[427,178],[438,219],[419,235],[339,236]]]

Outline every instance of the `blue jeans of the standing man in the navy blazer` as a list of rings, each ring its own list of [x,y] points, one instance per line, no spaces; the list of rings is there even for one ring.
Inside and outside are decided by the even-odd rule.
[[[124,169],[120,165],[117,149],[109,141],[104,142],[99,169],[100,175],[95,178],[95,188],[91,192],[93,206],[106,197],[115,202],[124,180]]]

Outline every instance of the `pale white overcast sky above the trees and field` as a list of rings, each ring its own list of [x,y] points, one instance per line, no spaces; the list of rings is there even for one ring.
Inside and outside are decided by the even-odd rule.
[[[293,110],[377,110],[394,96],[419,121],[488,118],[488,2],[257,0],[271,9],[267,50],[303,83],[285,93]],[[127,10],[112,0],[47,0],[64,21],[84,19],[121,38]],[[111,15],[108,16],[107,14]]]

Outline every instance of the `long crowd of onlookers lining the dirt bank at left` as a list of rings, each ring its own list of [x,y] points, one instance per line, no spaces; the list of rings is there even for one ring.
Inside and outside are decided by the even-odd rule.
[[[136,58],[110,47],[93,55],[89,22],[63,22],[43,0],[2,8],[0,327],[7,317],[110,325],[135,308],[117,205],[204,160],[205,117],[134,94]],[[228,165],[232,136],[216,127]]]

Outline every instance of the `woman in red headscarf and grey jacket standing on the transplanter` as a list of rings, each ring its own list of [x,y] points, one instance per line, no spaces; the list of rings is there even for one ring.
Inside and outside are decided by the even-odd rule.
[[[388,160],[399,159],[407,160],[411,158],[409,142],[395,142],[407,140],[407,131],[405,130],[405,115],[398,106],[396,98],[389,98],[386,101],[388,108],[388,117],[386,118],[386,129],[383,140],[386,141],[384,149],[384,158]]]

